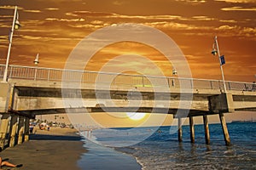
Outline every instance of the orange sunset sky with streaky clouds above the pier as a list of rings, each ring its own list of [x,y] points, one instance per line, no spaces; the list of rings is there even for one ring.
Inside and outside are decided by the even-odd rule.
[[[171,37],[189,62],[193,77],[221,79],[213,57],[213,36],[225,55],[226,80],[255,81],[256,3],[254,0],[34,0],[0,1],[0,63],[6,61],[14,5],[19,7],[21,29],[15,31],[10,64],[63,68],[76,44],[93,31],[121,23],[153,26]],[[99,51],[86,66],[101,70],[120,54],[140,54],[153,60],[166,76],[172,65],[154,48],[121,42]],[[133,70],[133,64],[125,63]],[[148,65],[140,63],[154,71]]]

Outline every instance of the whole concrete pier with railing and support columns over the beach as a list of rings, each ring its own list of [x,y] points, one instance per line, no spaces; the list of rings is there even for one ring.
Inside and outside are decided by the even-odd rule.
[[[0,65],[0,77],[3,77],[3,68],[4,65]],[[63,77],[65,74],[67,78]],[[0,83],[0,113],[3,115],[0,126],[2,149],[27,141],[29,122],[35,116],[67,111],[91,114],[96,112],[172,114],[173,118],[178,120],[179,142],[183,140],[182,119],[189,117],[191,143],[195,142],[193,118],[201,116],[206,144],[210,144],[207,116],[218,115],[225,144],[230,145],[224,113],[256,111],[256,91],[253,89],[253,83],[249,82],[227,81],[225,82],[227,92],[224,93],[223,82],[219,80],[146,77],[19,65],[9,65],[8,75],[8,82]],[[157,83],[153,86],[149,78]],[[101,85],[96,86],[95,82]],[[183,83],[189,86],[183,88]],[[79,98],[86,105],[67,107],[62,102],[62,99]],[[102,103],[99,103],[99,100]],[[183,105],[180,105],[181,103]]]

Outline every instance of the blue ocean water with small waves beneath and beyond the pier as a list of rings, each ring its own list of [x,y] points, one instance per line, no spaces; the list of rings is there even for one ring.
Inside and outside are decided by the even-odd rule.
[[[224,143],[220,124],[209,125],[211,144],[205,144],[203,125],[195,125],[195,144],[190,143],[189,126],[183,126],[181,143],[177,141],[175,127],[98,129],[93,131],[92,140],[113,152],[134,157],[143,170],[256,169],[256,122],[228,123],[227,126],[230,146]]]

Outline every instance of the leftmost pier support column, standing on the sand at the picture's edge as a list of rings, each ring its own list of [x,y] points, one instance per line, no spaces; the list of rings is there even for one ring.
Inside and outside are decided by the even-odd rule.
[[[7,134],[7,128],[9,124],[9,114],[3,114],[1,118],[1,126],[0,126],[0,147],[3,150],[5,146],[5,138]]]

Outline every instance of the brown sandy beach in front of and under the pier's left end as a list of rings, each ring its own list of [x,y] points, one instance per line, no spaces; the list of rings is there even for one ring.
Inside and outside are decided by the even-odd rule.
[[[77,161],[86,152],[81,137],[75,129],[51,127],[49,131],[39,130],[31,135],[30,141],[17,144],[1,152],[3,159],[14,164],[23,164],[20,168],[3,169],[73,169],[79,170]]]

